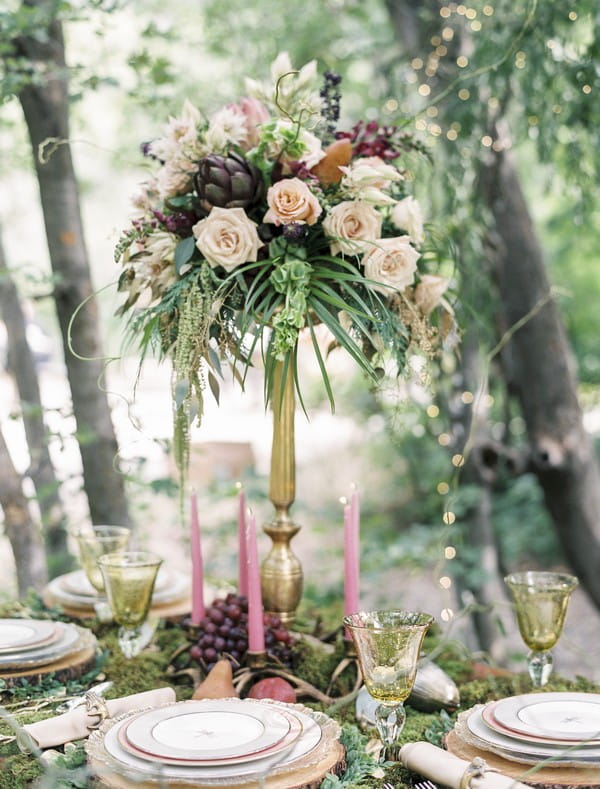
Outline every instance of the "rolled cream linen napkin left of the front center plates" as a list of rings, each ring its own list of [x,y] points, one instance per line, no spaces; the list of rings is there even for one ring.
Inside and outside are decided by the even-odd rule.
[[[157,688],[144,693],[134,693],[132,696],[123,696],[120,699],[110,699],[106,702],[106,711],[109,717],[116,718],[124,712],[144,707],[160,707],[173,701],[175,701],[173,688]],[[85,704],[81,704],[63,715],[28,723],[23,728],[31,735],[38,747],[44,750],[56,745],[64,745],[65,742],[81,740],[101,722],[102,717],[99,713],[90,712]]]

